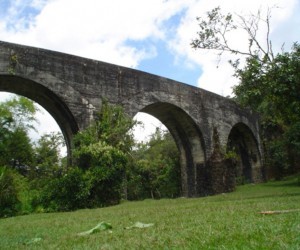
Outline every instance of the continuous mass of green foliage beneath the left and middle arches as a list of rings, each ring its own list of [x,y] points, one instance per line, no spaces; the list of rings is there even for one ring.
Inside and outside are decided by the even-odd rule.
[[[7,177],[16,197],[11,209],[5,205],[10,215],[113,205],[124,192],[129,199],[180,195],[179,154],[169,133],[158,130],[148,143],[136,146],[136,122],[122,107],[104,101],[94,122],[74,137],[75,164],[67,169],[59,156],[60,133],[44,134],[36,145],[30,141],[35,109],[27,101],[1,104],[0,160],[23,175],[9,172],[14,174]]]

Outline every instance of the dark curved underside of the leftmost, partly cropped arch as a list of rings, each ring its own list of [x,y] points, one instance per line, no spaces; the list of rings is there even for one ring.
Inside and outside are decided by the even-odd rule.
[[[15,75],[0,75],[0,91],[25,96],[45,108],[60,127],[70,156],[72,137],[79,128],[71,111],[59,96],[33,80]]]

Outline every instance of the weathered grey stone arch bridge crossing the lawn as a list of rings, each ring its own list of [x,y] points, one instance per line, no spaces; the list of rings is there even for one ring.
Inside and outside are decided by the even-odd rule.
[[[211,92],[142,71],[0,42],[0,91],[26,96],[72,136],[87,127],[103,99],[158,118],[180,152],[186,197],[231,191],[237,179],[262,180],[257,115]],[[234,148],[234,160],[224,152]]]

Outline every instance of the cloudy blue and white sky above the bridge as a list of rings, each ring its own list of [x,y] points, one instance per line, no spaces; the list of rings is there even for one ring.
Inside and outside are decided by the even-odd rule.
[[[226,96],[236,84],[229,57],[218,63],[215,53],[190,46],[196,17],[217,6],[242,16],[276,6],[274,49],[285,43],[288,50],[300,40],[299,0],[0,0],[0,40],[131,67]],[[241,33],[231,41],[241,48],[247,43]]]

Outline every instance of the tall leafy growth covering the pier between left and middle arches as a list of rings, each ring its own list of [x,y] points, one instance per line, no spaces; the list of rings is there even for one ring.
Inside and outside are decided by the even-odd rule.
[[[131,160],[131,129],[135,124],[122,107],[104,101],[95,121],[75,136],[73,156],[88,176],[90,206],[119,202]]]

